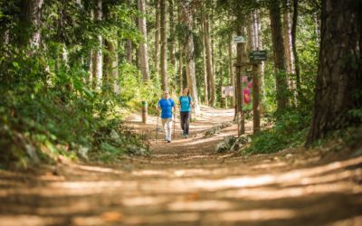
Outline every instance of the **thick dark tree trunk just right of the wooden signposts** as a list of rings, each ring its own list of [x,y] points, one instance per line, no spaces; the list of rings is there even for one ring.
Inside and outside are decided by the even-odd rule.
[[[271,38],[275,63],[275,84],[277,110],[281,112],[288,107],[287,89],[288,81],[285,70],[284,45],[281,34],[281,8],[279,1],[270,5]]]

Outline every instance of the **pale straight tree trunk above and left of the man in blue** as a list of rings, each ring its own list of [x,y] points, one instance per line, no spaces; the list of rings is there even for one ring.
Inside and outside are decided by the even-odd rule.
[[[138,10],[142,15],[142,17],[138,18],[138,29],[140,33],[142,33],[144,41],[139,43],[139,68],[142,73],[142,77],[144,81],[149,80],[149,72],[148,72],[148,38],[147,38],[147,27],[146,27],[146,18],[144,14],[146,14],[146,1],[138,0]]]

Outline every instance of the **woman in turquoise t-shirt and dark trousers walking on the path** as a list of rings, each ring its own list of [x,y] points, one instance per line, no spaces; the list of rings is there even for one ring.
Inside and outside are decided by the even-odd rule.
[[[193,99],[189,96],[188,88],[185,88],[183,90],[182,96],[178,99],[178,105],[180,106],[181,128],[185,138],[188,137],[191,108],[193,104]]]

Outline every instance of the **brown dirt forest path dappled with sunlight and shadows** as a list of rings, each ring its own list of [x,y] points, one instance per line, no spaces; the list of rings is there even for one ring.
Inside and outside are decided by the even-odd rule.
[[[361,147],[216,154],[236,126],[205,131],[230,122],[233,110],[202,112],[189,138],[177,123],[169,144],[163,134],[154,140],[157,118],[130,118],[151,137],[148,157],[0,170],[0,225],[362,225]]]

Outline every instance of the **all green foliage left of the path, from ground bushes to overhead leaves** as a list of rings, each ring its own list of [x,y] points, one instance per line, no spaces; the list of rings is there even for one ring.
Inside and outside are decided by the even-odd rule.
[[[0,148],[4,150],[0,163],[26,167],[54,163],[61,155],[105,161],[126,153],[147,155],[148,143],[123,126],[125,116],[119,108],[154,99],[156,94],[149,92],[155,87],[153,83],[142,86],[138,70],[121,65],[119,85],[132,90],[121,89],[120,95],[116,94],[112,79],[94,89],[85,63],[99,33],[110,40],[139,42],[130,17],[136,12],[107,2],[108,19],[99,23],[91,20],[94,5],[48,1],[43,6],[42,46],[33,48],[15,42],[16,27],[23,24],[16,20],[20,5],[12,3],[1,5],[0,10],[5,12],[0,30],[14,28],[10,30],[12,42],[0,46]],[[24,33],[24,39],[29,38]]]

